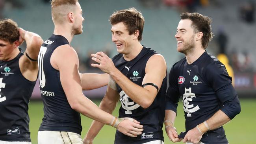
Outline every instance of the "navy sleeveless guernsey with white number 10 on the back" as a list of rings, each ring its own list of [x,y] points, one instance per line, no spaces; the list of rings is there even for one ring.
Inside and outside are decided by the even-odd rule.
[[[70,107],[59,71],[50,64],[54,50],[65,44],[69,44],[65,37],[53,34],[42,44],[38,55],[40,92],[44,104],[44,118],[39,131],[69,131],[81,135],[80,113]]]

